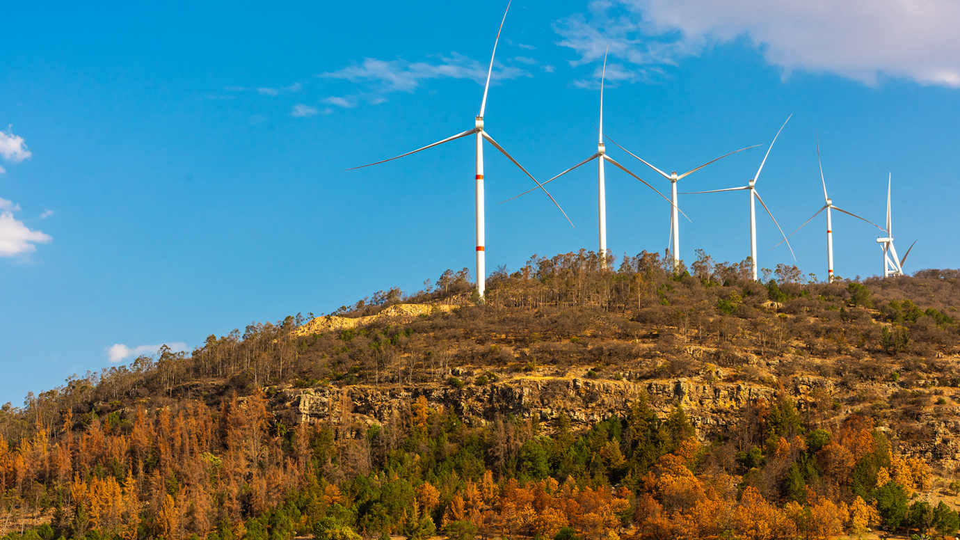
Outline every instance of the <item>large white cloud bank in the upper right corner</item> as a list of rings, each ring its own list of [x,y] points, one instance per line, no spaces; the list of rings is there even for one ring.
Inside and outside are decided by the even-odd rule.
[[[580,59],[671,64],[746,38],[784,75],[828,72],[876,85],[888,76],[960,87],[954,0],[594,0],[556,31]]]

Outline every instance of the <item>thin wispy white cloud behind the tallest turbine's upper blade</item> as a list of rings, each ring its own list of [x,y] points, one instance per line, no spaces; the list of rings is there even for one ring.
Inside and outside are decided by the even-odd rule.
[[[367,84],[377,93],[405,91],[412,92],[427,79],[469,79],[479,84],[487,80],[488,64],[475,61],[464,55],[452,53],[439,56],[437,61],[381,61],[366,59],[361,64],[353,64],[337,71],[322,73],[320,77],[328,79],[346,79],[351,83]],[[516,79],[529,76],[526,71],[494,63],[492,81]]]

